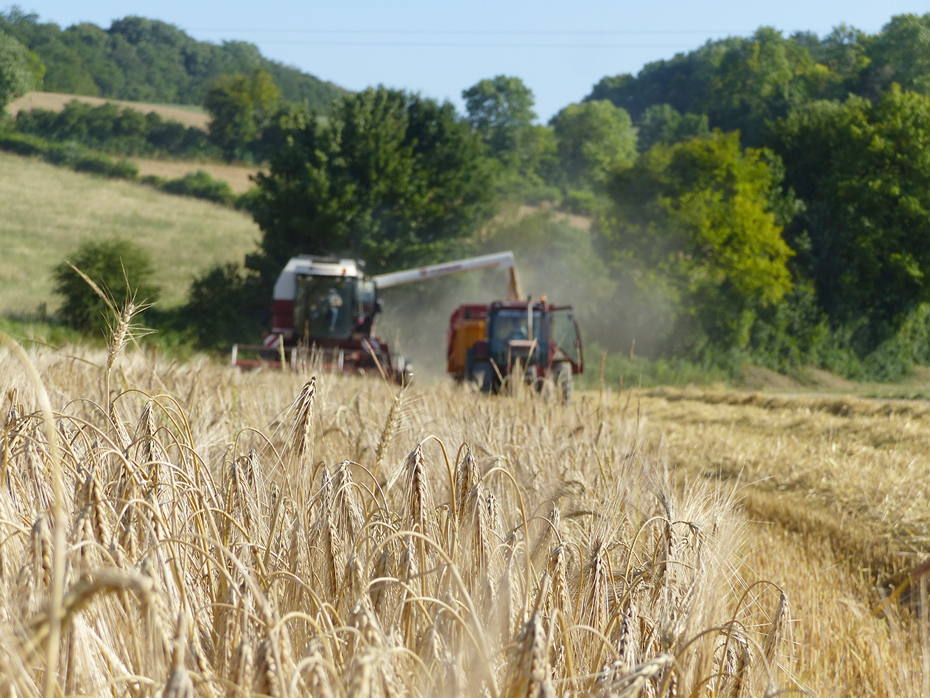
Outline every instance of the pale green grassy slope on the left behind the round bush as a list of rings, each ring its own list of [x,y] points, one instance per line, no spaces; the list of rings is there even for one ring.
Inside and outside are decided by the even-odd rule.
[[[0,312],[57,307],[51,268],[94,237],[150,252],[162,302],[179,303],[193,276],[241,260],[259,230],[246,214],[132,182],[74,173],[0,153]]]

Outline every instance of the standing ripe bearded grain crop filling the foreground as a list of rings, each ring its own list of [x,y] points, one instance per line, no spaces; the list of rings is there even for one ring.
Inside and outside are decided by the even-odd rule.
[[[3,336],[5,695],[810,690],[737,492],[639,399],[166,363],[129,320]]]

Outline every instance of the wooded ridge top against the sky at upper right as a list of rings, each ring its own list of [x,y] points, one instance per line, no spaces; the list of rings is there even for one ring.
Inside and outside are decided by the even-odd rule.
[[[635,77],[604,77],[586,99],[610,99],[637,125],[649,108],[669,104],[680,114],[706,115],[711,127],[738,129],[744,145],[759,145],[768,121],[813,100],[849,93],[877,99],[893,83],[927,92],[928,56],[930,14],[895,17],[875,36],[844,25],[822,39],[762,27],[649,63]]]

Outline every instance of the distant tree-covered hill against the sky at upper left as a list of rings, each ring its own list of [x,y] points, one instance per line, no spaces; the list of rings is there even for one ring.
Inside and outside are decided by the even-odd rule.
[[[241,41],[197,41],[178,27],[158,20],[126,17],[103,30],[81,23],[61,29],[53,22],[13,7],[0,12],[0,31],[15,36],[46,66],[42,88],[110,99],[197,104],[204,86],[222,73],[272,74],[281,97],[307,101],[327,112],[347,90],[275,60]]]

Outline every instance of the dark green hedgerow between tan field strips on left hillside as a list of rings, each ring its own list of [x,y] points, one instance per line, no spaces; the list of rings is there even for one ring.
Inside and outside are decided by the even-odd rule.
[[[221,154],[202,129],[113,103],[94,106],[74,99],[60,112],[24,110],[16,115],[15,127],[20,133],[123,155],[193,159]]]

